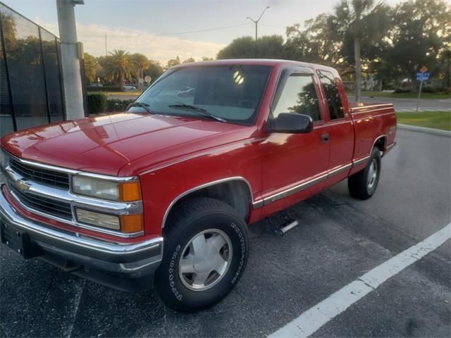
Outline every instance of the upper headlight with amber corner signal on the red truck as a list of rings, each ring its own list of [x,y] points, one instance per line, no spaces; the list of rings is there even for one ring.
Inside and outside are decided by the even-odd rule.
[[[109,201],[138,201],[141,198],[140,182],[111,182],[90,177],[74,176],[72,192]]]

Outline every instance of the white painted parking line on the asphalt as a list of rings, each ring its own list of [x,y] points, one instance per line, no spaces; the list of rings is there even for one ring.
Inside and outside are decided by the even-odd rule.
[[[327,299],[311,307],[269,337],[309,337],[310,334],[316,332],[329,320],[376,289],[385,280],[400,273],[400,271],[434,251],[450,238],[451,223],[438,230],[438,232],[434,232],[424,241],[411,246],[409,249],[376,266],[376,268],[357,278],[354,282],[347,284],[338,292],[331,294]]]

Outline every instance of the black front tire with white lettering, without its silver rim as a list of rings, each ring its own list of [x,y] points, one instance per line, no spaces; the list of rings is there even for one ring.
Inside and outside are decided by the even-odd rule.
[[[177,207],[166,227],[163,261],[155,278],[157,292],[166,306],[180,312],[199,311],[232,291],[245,270],[249,252],[247,225],[234,208],[209,197],[193,198]],[[220,230],[230,239],[228,270],[209,289],[192,290],[179,275],[180,258],[194,237],[211,229]]]

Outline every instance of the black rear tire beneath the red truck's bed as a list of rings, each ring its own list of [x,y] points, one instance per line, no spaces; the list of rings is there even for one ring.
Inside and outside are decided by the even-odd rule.
[[[376,170],[371,168],[372,165],[376,165]],[[371,172],[376,173],[376,177],[374,180],[370,180],[369,176]],[[373,175],[371,175],[372,177]],[[354,197],[354,199],[369,199],[373,196],[374,192],[376,192],[376,188],[378,187],[379,178],[381,177],[381,151],[378,148],[373,148],[371,151],[371,156],[369,158],[368,165],[364,168],[364,170],[359,171],[359,173],[355,173],[347,179],[347,189],[350,192],[350,195]]]

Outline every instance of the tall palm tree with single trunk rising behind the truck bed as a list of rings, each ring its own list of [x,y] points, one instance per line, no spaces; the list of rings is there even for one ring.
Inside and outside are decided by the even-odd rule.
[[[382,30],[382,23],[378,20],[386,15],[387,6],[381,1],[374,6],[374,0],[341,0],[335,6],[335,22],[340,23],[342,38],[350,36],[354,44],[355,61],[355,100],[360,101],[362,83],[361,45],[362,37],[373,37],[377,30]],[[368,41],[366,41],[368,43]]]

